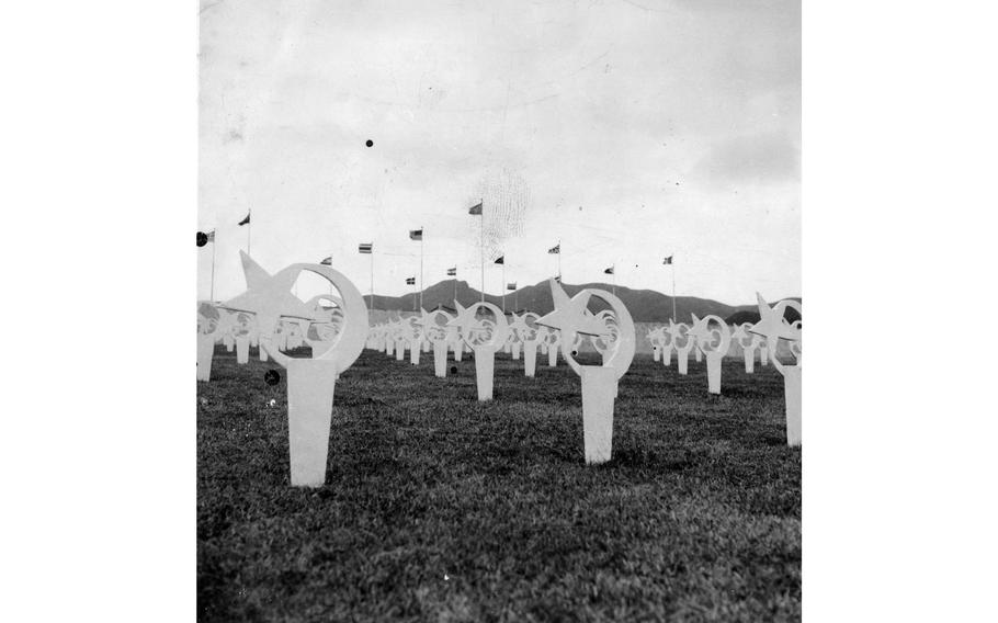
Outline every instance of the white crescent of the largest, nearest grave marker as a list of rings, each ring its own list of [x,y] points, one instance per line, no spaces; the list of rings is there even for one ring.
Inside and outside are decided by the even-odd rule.
[[[353,285],[347,275],[333,270],[325,264],[292,264],[284,269],[285,271],[309,271],[326,277],[332,286],[336,287],[343,297],[343,327],[333,341],[329,350],[315,358],[321,361],[334,361],[337,374],[345,371],[353,365],[353,362],[361,356],[364,350],[364,343],[367,341],[367,304],[360,291]],[[270,340],[266,340],[266,352],[274,360],[287,367],[291,358],[282,352],[274,354],[271,350]],[[280,356],[279,356],[280,355]]]

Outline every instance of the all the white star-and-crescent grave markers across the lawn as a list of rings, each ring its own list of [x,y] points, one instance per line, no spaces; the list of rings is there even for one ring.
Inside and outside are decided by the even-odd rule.
[[[211,380],[215,343],[236,351],[238,363],[249,361],[249,348],[259,347],[259,356],[273,359],[287,374],[288,445],[293,486],[318,487],[326,480],[329,434],[336,381],[364,348],[385,352],[397,360],[418,364],[421,352],[432,352],[434,373],[446,375],[447,352],[456,361],[473,353],[479,400],[492,399],[495,356],[499,350],[519,359],[523,350],[524,374],[536,374],[540,350],[548,365],[562,356],[579,375],[582,385],[582,431],[588,464],[604,463],[613,448],[613,410],[620,378],[627,372],[636,350],[634,321],[623,302],[600,288],[585,288],[569,297],[557,280],[549,286],[554,309],[544,316],[513,315],[512,322],[490,303],[468,307],[456,305],[456,315],[442,309],[423,310],[420,316],[400,318],[368,327],[367,307],[356,286],[342,273],[325,264],[292,264],[271,275],[248,254],[240,252],[247,291],[219,305],[199,305],[197,380]],[[340,296],[319,295],[308,302],[291,293],[302,271],[314,272],[339,292]],[[610,309],[598,314],[588,305],[596,297]],[[328,305],[324,304],[327,303]],[[783,316],[787,307],[801,312],[795,301],[770,306],[758,296],[760,321],[733,330],[717,316],[693,317],[692,327],[676,325],[648,331],[656,361],[669,365],[676,350],[680,374],[687,373],[690,350],[707,361],[708,392],[721,393],[721,361],[732,341],[746,353],[746,371],[751,372],[755,350],[768,348],[775,353],[779,340],[791,343],[794,365],[772,356],[783,375],[786,397],[786,433],[790,445],[801,444],[801,327]],[[487,316],[491,316],[491,319]],[[589,338],[600,353],[600,365],[582,365],[575,359],[582,340]],[[311,358],[291,358],[284,351],[300,346],[311,348]],[[764,356],[764,355],[763,355]]]

